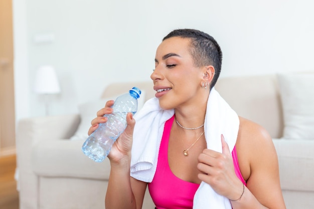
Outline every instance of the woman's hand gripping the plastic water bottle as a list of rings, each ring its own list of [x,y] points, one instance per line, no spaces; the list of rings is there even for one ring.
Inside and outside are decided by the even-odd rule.
[[[107,101],[105,107],[97,112],[97,117],[91,121],[92,126],[88,130],[88,135],[92,134],[99,127],[99,123],[107,122],[108,119],[103,116],[112,113],[113,109],[111,107],[113,103],[113,100]],[[135,125],[135,120],[132,113],[127,114],[126,122],[127,126],[125,130],[114,142],[108,154],[109,160],[113,163],[119,163],[124,157],[131,156],[133,130]]]

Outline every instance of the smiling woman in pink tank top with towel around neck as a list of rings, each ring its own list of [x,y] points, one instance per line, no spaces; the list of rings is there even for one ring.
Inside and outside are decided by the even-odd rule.
[[[136,119],[135,125],[129,113],[128,125],[108,155],[111,171],[105,199],[107,208],[141,208],[147,185],[156,208],[192,208],[193,204],[199,204],[194,202],[199,201],[195,196],[202,196],[196,193],[205,191],[199,188],[201,182],[222,196],[222,202],[227,199],[230,204],[223,206],[226,203],[220,202],[216,208],[285,208],[276,152],[271,137],[261,126],[236,116],[235,125],[230,125],[236,127],[234,143],[230,139],[232,134],[230,137],[227,137],[228,133],[221,133],[219,138],[210,137],[211,132],[217,132],[220,126],[228,123],[229,117],[234,119],[228,113],[226,120],[219,123],[220,116],[214,116],[213,109],[221,109],[219,105],[215,106],[216,100],[211,99],[222,100],[213,88],[220,74],[221,60],[219,45],[203,32],[175,30],[163,39],[156,50],[155,69],[150,77],[159,108],[162,112],[173,112],[162,123],[162,137],[157,137],[161,139],[156,140],[158,151],[153,177],[148,182],[130,177],[135,154],[131,152],[132,144],[135,149],[134,144],[142,140],[137,132],[146,130],[134,129],[145,117]],[[113,103],[108,101],[105,108],[97,112],[89,134],[99,123],[106,122],[102,116],[112,112]],[[143,109],[145,106],[150,108],[145,104]],[[158,129],[154,122],[149,127]],[[226,142],[228,140],[230,143]],[[212,142],[218,143],[221,150],[210,149]],[[209,194],[203,192],[204,195],[206,198]],[[211,198],[209,202],[216,199]]]

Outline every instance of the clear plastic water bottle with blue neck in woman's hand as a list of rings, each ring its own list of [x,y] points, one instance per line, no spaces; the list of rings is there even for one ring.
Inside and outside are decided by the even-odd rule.
[[[116,98],[112,106],[113,112],[104,115],[108,118],[107,122],[100,123],[99,127],[85,140],[82,151],[86,156],[96,162],[101,162],[106,158],[113,143],[126,128],[126,114],[136,113],[140,93],[138,88],[133,87],[129,93]]]

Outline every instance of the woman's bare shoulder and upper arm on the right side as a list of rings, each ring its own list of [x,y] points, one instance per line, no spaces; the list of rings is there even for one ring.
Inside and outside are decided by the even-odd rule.
[[[237,152],[247,188],[268,208],[285,208],[275,147],[268,132],[248,120],[240,122]]]

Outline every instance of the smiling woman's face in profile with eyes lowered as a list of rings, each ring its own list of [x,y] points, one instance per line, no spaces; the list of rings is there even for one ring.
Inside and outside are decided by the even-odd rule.
[[[189,39],[172,37],[156,50],[155,70],[150,78],[163,109],[195,105],[199,97],[204,96],[201,83],[206,68],[194,66],[189,47]]]

